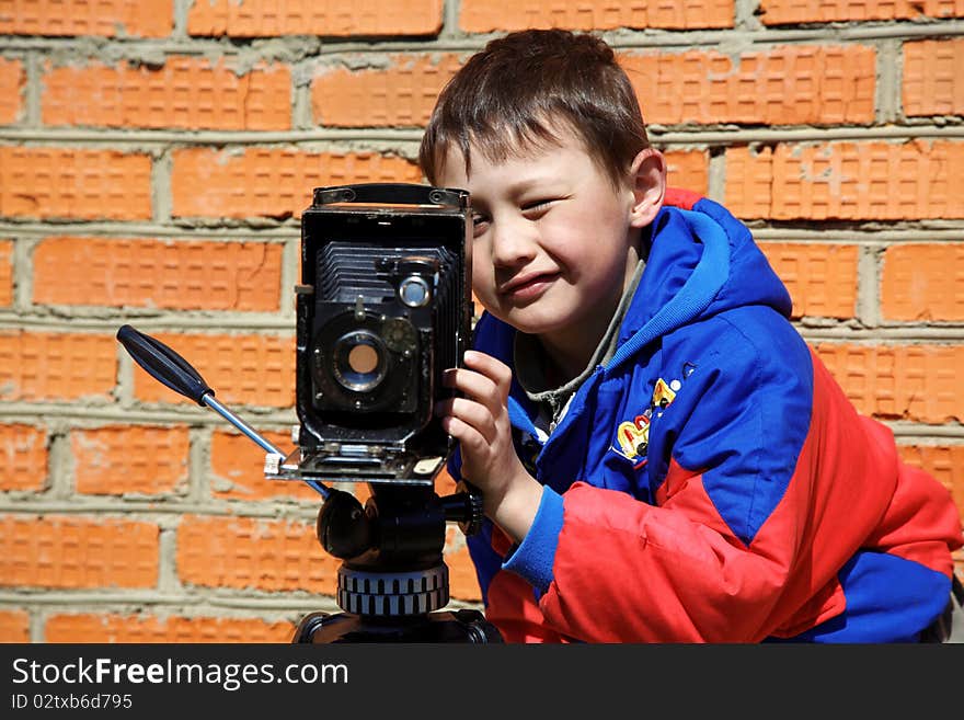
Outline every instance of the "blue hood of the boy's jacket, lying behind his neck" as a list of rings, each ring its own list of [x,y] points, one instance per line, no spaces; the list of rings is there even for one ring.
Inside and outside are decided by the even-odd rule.
[[[666,205],[643,239],[646,267],[607,370],[684,324],[736,307],[769,306],[790,317],[783,283],[749,229],[707,198],[690,209]]]

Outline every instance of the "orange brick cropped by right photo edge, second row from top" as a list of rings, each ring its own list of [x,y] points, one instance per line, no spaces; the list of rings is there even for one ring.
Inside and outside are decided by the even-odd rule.
[[[964,115],[964,39],[904,44],[904,113]]]

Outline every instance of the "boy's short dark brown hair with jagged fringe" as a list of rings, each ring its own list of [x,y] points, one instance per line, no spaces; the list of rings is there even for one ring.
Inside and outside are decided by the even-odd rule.
[[[448,81],[428,121],[418,164],[438,182],[446,155],[469,147],[501,162],[559,144],[567,128],[618,184],[650,146],[635,91],[601,38],[527,30],[491,41]]]

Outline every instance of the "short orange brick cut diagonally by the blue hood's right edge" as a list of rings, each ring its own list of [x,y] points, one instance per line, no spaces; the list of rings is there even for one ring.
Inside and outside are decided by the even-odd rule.
[[[857,305],[856,245],[761,242],[793,298],[793,316],[852,318]]]

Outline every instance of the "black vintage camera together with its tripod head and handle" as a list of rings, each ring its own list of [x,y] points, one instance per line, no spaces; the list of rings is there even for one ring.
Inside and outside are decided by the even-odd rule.
[[[285,455],[215,398],[172,348],[122,327],[117,339],[150,375],[231,422],[267,452],[265,477],[322,494],[317,535],[343,560],[343,613],[311,613],[292,642],[502,642],[478,610],[449,602],[446,523],[482,525],[482,496],[435,477],[454,449],[434,405],[461,364],[472,323],[471,215],[466,191],[412,184],[318,187],[301,218],[296,287],[296,404]],[[329,481],[369,484],[363,506]]]

